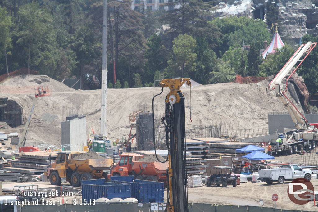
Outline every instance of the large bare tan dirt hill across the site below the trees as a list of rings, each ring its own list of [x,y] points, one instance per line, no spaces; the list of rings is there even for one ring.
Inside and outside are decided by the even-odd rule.
[[[191,125],[209,122],[240,123],[245,129],[268,128],[268,113],[287,112],[273,92],[266,90],[268,80],[259,83],[239,85],[224,83],[200,85],[191,88]],[[74,90],[43,75],[24,75],[7,79],[0,84],[0,97],[14,99],[23,107],[24,122],[30,113],[34,98],[34,86],[48,85],[52,88],[52,97],[38,99],[29,126],[28,145],[49,143],[59,145],[61,139],[60,121],[65,120],[73,109],[86,114],[87,135],[91,128],[100,132],[100,93],[101,90]],[[107,136],[115,140],[128,137],[129,113],[138,109],[139,103],[151,106],[153,94],[160,88],[108,89],[107,91]],[[190,118],[190,88],[183,88],[186,105],[186,126]],[[158,111],[164,110],[164,99],[168,89],[156,97]],[[296,104],[297,105],[297,104]],[[301,106],[298,103],[298,108]],[[73,110],[73,111],[76,111]],[[20,135],[24,126],[12,128]],[[236,127],[236,126],[233,126]],[[135,133],[135,130],[134,132]]]

